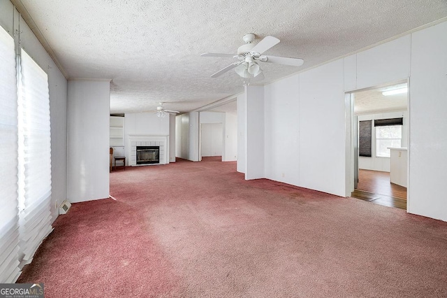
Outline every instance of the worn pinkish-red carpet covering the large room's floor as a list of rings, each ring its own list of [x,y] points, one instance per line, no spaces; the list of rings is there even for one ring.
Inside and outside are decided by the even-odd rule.
[[[110,173],[73,204],[20,283],[45,297],[447,297],[447,222],[245,181],[235,162]]]

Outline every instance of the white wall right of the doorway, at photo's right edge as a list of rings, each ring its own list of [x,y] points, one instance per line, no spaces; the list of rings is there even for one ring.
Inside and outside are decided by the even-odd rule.
[[[447,22],[411,34],[409,206],[447,221]]]

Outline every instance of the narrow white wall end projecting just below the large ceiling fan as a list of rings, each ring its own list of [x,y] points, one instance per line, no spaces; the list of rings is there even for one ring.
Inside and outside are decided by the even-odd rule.
[[[245,85],[245,180],[265,178],[264,87]]]

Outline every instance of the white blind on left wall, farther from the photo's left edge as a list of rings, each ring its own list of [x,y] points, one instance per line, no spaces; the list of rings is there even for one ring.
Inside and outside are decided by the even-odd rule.
[[[20,267],[50,234],[51,136],[47,73],[23,49],[18,92]]]

